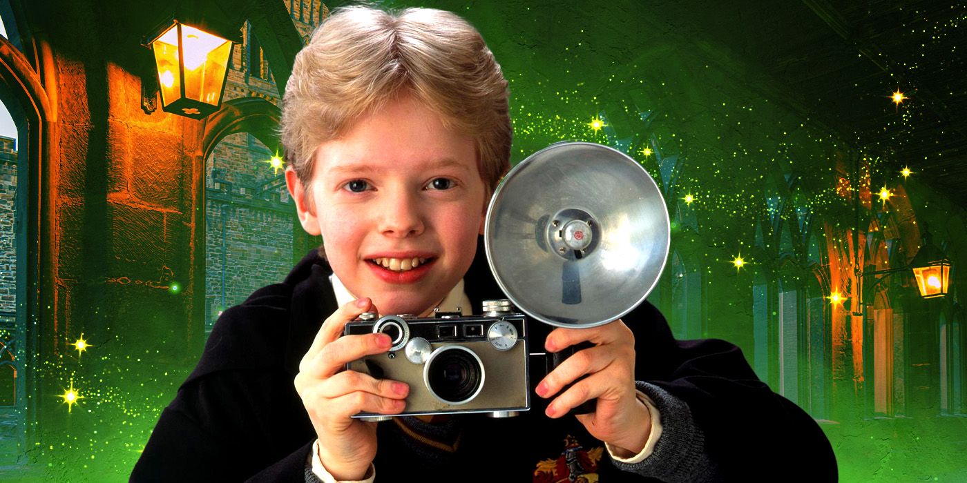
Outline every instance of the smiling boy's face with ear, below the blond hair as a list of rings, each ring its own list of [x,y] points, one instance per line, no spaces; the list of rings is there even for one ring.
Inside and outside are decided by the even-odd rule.
[[[313,169],[308,186],[288,169],[289,192],[357,298],[423,314],[470,267],[486,209],[475,144],[419,100],[400,97],[322,143]]]

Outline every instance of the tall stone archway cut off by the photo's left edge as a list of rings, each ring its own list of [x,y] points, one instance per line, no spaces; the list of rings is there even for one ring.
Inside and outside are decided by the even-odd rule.
[[[53,193],[49,162],[56,154],[55,111],[34,64],[16,45],[24,32],[16,29],[10,2],[0,2],[3,24],[12,37],[0,38],[0,102],[10,113],[15,137],[0,138],[0,211],[3,212],[3,255],[0,260],[0,466],[24,463],[21,456],[35,438],[27,421],[37,420],[43,404],[38,397],[35,368],[52,348],[49,304],[42,304],[52,280],[50,240],[42,233],[52,219]],[[45,43],[35,39],[34,62],[50,61]],[[54,75],[47,72],[47,75]],[[28,287],[30,290],[28,290]],[[34,323],[28,324],[29,321]]]

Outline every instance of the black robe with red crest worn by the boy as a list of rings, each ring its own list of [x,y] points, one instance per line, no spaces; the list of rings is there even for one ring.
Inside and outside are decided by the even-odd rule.
[[[505,298],[482,252],[464,277],[474,307]],[[304,481],[316,436],[293,380],[337,308],[331,272],[312,250],[285,281],[224,311],[198,365],[161,412],[132,481]],[[623,320],[635,334],[636,379],[687,404],[716,470],[712,480],[835,481],[833,450],[819,426],[760,382],[739,348],[675,340],[648,302]],[[529,327],[532,351],[542,348],[551,327]],[[532,384],[542,376],[532,373]],[[543,414],[546,401],[533,393],[531,399],[530,412],[508,419],[468,414],[439,429],[379,423],[377,479],[568,481],[569,473],[585,472],[605,482],[659,481],[615,468],[575,418],[552,420]],[[662,424],[665,431],[675,426]]]

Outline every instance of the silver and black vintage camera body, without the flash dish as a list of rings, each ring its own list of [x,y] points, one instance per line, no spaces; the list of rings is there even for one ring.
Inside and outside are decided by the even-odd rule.
[[[484,315],[433,317],[366,313],[343,334],[382,332],[390,352],[367,355],[346,369],[410,385],[398,415],[486,412],[509,417],[530,409],[528,337],[525,318],[510,300],[484,300]],[[380,421],[390,416],[361,412]]]

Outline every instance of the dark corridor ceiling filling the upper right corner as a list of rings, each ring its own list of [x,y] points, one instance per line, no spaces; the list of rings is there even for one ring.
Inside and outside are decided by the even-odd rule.
[[[768,72],[787,104],[887,155],[967,208],[967,4],[929,0],[662,1],[734,58]],[[899,90],[899,105],[891,99]]]

